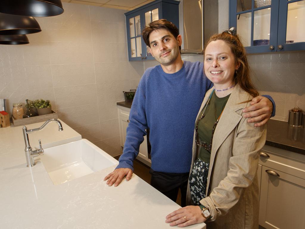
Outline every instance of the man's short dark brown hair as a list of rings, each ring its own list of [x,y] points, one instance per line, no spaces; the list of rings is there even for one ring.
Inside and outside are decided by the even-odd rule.
[[[142,30],[142,37],[147,46],[150,47],[149,35],[151,34],[152,31],[155,31],[157,29],[168,30],[176,39],[179,35],[178,28],[170,21],[165,19],[152,21],[151,23],[148,24],[148,26],[145,26],[144,29]],[[179,49],[181,50],[181,46],[179,46]]]

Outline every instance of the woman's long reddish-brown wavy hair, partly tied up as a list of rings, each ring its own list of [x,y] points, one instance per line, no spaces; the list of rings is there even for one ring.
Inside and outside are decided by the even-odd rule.
[[[246,57],[246,50],[240,41],[238,35],[231,35],[228,32],[224,31],[220,34],[214,34],[210,37],[206,45],[204,46],[204,52],[206,46],[212,42],[222,40],[226,42],[226,44],[230,47],[231,52],[235,57],[235,64],[240,63],[238,70],[234,74],[234,82],[235,84],[239,84],[240,87],[248,92],[251,96],[258,96],[257,89],[254,87],[251,77],[250,77],[250,68],[248,64],[248,60]]]

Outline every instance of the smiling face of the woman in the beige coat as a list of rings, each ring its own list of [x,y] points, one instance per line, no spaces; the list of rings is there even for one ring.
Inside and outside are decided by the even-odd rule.
[[[224,88],[230,86],[238,67],[239,64],[235,64],[235,56],[226,42],[217,40],[206,46],[204,72],[214,85],[222,85]]]

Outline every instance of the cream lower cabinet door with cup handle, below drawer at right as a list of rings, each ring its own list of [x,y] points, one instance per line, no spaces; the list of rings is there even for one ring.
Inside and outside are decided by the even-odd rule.
[[[262,166],[259,224],[266,229],[305,229],[305,180]]]

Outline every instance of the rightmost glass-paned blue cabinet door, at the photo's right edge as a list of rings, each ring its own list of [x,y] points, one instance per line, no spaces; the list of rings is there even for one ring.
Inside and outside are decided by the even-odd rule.
[[[280,4],[278,51],[305,49],[305,0],[288,0]],[[284,25],[284,26],[283,26]]]

